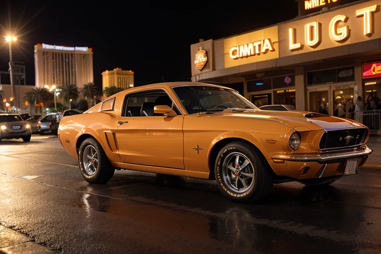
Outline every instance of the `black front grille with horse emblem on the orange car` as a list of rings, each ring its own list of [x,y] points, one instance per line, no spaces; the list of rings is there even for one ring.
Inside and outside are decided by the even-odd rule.
[[[319,147],[335,149],[357,146],[364,143],[367,132],[366,128],[329,130],[321,136]]]

